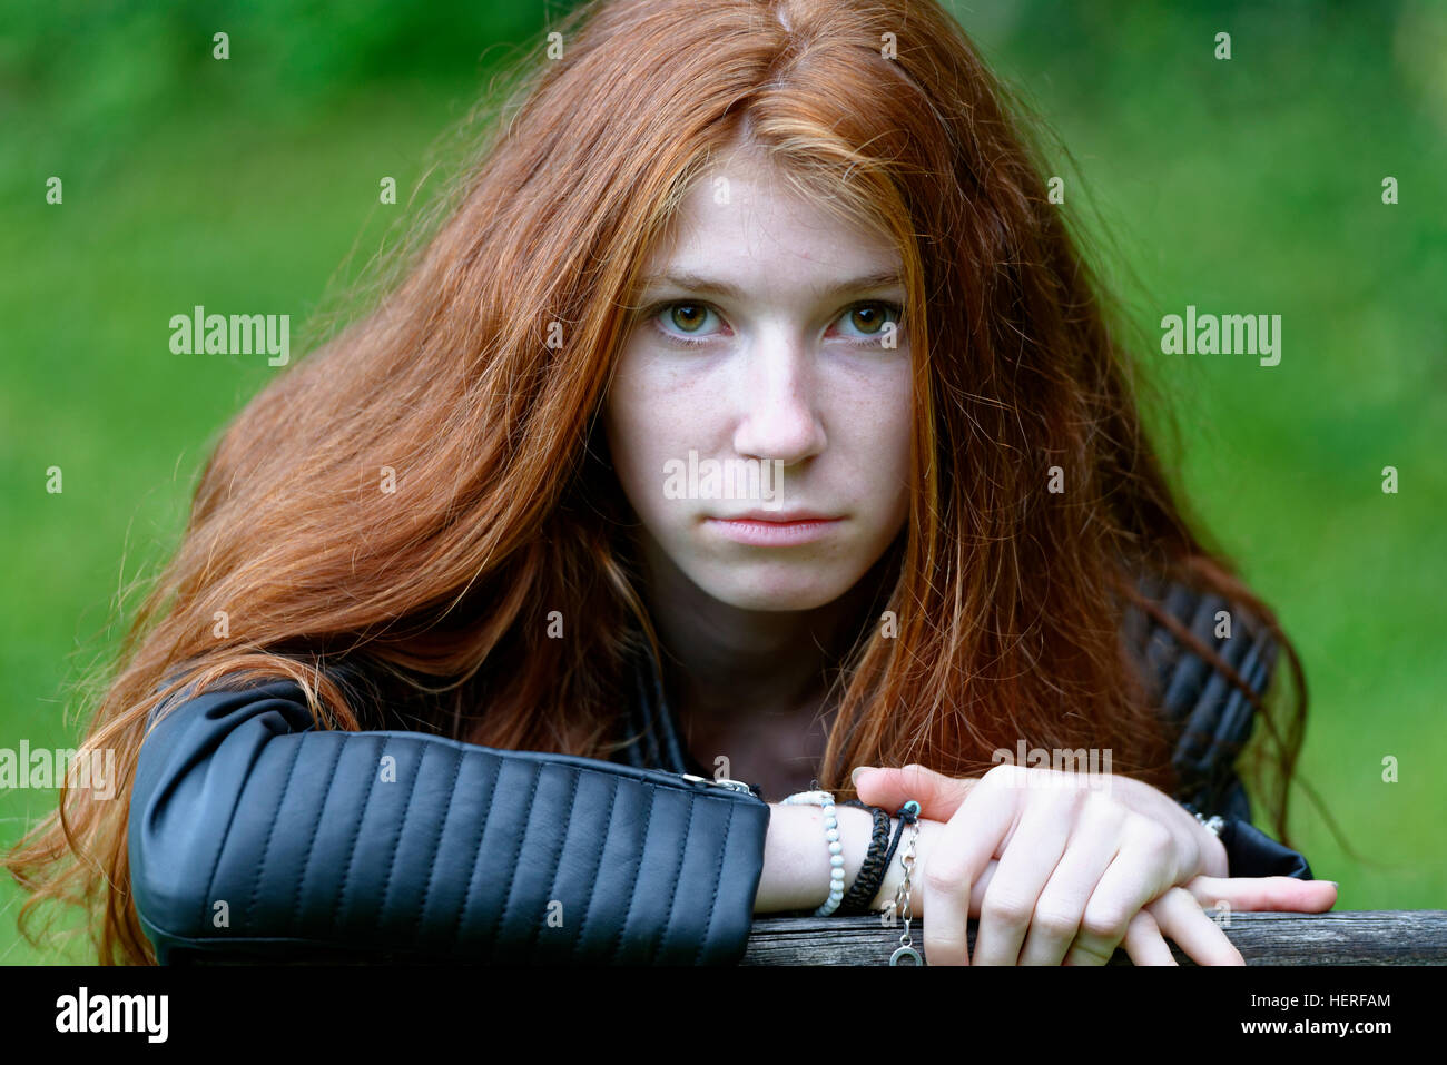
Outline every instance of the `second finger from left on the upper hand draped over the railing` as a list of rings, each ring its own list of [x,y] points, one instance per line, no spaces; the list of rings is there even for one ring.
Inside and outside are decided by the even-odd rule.
[[[1029,794],[1020,825],[1000,855],[994,881],[985,891],[971,965],[1014,965],[1020,959],[1020,946],[1035,928],[1040,893],[1065,854],[1075,828],[1081,799],[1079,793],[1062,789]],[[941,833],[941,839],[949,839],[952,832],[962,839],[969,831],[971,826],[956,818]],[[1074,923],[1068,932],[1061,954],[1065,954],[1065,945],[1075,936]],[[1046,938],[1061,933],[1059,928],[1040,932]]]

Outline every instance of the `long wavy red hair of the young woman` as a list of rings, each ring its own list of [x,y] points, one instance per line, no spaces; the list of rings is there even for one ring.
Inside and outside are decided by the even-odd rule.
[[[85,907],[103,962],[152,962],[130,900],[129,792],[150,710],[185,684],[291,677],[321,728],[411,728],[608,757],[629,654],[657,638],[599,412],[650,249],[710,162],[767,152],[888,234],[917,417],[910,517],[841,660],[820,786],[857,764],[978,774],[996,748],[1110,750],[1171,790],[1171,728],[1123,648],[1137,590],[1213,590],[1285,648],[1266,716],[1286,784],[1305,687],[1272,611],[1192,531],[1142,423],[1114,304],[1046,194],[1037,132],[922,0],[608,0],[528,56],[438,224],[365,313],[229,424],[182,540],[107,667],[65,789],[7,858],[32,907]],[[559,343],[561,337],[561,343]],[[1048,492],[1059,467],[1064,492]],[[891,611],[878,624],[880,605]],[[546,638],[563,611],[566,640]],[[888,629],[888,631],[886,631]],[[331,669],[365,663],[366,699]],[[26,933],[29,935],[29,932]]]

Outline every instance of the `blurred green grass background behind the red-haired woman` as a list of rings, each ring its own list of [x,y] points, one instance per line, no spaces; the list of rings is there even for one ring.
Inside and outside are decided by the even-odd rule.
[[[1145,9],[1145,10],[1142,10]],[[117,3],[12,12],[0,39],[0,747],[71,747],[69,686],[174,550],[265,357],[175,356],[204,304],[304,323],[407,211],[492,62],[563,4]],[[1447,6],[952,4],[1029,100],[1069,210],[1162,314],[1281,314],[1279,366],[1162,356],[1185,491],[1297,640],[1311,692],[1292,831],[1338,909],[1443,907]],[[210,58],[211,33],[232,58]],[[1213,58],[1231,33],[1233,58]],[[64,178],[62,205],[45,181]],[[378,179],[401,205],[378,204]],[[1380,182],[1401,182],[1383,205]],[[423,194],[431,190],[431,181]],[[64,493],[45,492],[48,466]],[[1401,491],[1380,489],[1396,466]],[[1382,760],[1399,760],[1399,783]],[[0,793],[0,847],[55,802]],[[0,962],[33,949],[0,884]]]

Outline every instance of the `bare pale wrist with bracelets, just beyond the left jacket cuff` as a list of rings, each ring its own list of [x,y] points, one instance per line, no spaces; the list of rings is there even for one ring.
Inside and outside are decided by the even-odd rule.
[[[844,886],[848,891],[870,851],[874,819],[857,806],[836,806]],[[754,913],[812,910],[829,896],[829,849],[823,810],[818,806],[773,803],[764,839],[764,871],[758,878]],[[893,896],[890,887],[890,896]],[[887,897],[883,890],[877,899]]]

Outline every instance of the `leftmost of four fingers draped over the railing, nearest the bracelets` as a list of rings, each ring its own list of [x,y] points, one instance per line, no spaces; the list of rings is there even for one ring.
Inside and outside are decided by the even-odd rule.
[[[969,964],[972,886],[1014,829],[1019,794],[1007,787],[971,790],[932,844],[920,877],[928,913],[925,949],[930,965]],[[977,949],[978,936],[977,929]]]

